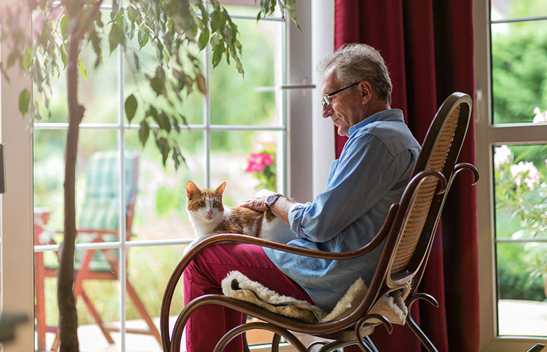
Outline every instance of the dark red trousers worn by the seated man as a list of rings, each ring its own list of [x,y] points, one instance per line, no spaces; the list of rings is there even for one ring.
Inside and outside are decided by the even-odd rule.
[[[206,248],[186,267],[184,305],[205,294],[222,294],[220,283],[233,270],[279,294],[313,303],[300,285],[277,269],[261,247],[226,243]],[[240,325],[242,318],[239,312],[220,305],[198,308],[186,323],[186,351],[212,352],[224,333]],[[242,352],[243,338],[232,340],[224,351]]]

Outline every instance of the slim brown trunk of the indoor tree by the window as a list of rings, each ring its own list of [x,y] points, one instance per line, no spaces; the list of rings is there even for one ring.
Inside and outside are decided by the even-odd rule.
[[[57,277],[61,352],[79,351],[76,333],[78,317],[76,316],[76,300],[74,298],[74,243],[76,241],[76,155],[79,125],[84,112],[83,107],[78,104],[78,48],[80,41],[79,35],[70,37],[67,62],[69,126],[65,146],[65,231]]]

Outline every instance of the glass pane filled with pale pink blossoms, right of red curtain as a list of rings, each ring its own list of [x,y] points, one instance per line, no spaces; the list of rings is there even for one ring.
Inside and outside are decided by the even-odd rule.
[[[547,144],[495,146],[497,238],[547,238]]]

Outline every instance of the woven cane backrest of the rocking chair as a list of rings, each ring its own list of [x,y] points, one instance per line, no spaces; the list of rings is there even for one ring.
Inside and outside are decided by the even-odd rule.
[[[422,144],[422,151],[414,168],[415,175],[422,170],[438,171],[444,175],[450,186],[470,117],[471,98],[468,95],[456,92],[444,100]],[[414,280],[410,288],[414,290],[421,279],[420,270],[427,262],[442,205],[448,193],[439,193],[439,184],[440,179],[427,177],[411,199],[409,213],[400,227],[400,240],[396,244],[394,259],[390,265],[390,286],[396,282],[400,284]]]

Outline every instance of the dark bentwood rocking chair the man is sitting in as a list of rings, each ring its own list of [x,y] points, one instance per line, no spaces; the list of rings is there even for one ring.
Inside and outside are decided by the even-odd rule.
[[[217,343],[214,352],[222,351],[235,336],[250,329],[265,329],[275,333],[272,351],[279,351],[279,340],[283,336],[297,351],[311,351],[322,345],[319,351],[335,351],[342,347],[358,344],[362,351],[377,351],[368,337],[377,325],[384,325],[391,333],[392,322],[384,316],[371,314],[372,307],[381,298],[400,292],[405,298],[405,305],[410,311],[416,300],[427,300],[438,306],[435,298],[428,294],[414,294],[433,243],[442,206],[447,197],[453,178],[461,170],[469,169],[478,181],[478,172],[471,164],[455,164],[464,140],[471,115],[471,98],[462,93],[451,94],[443,102],[436,114],[422,145],[422,151],[414,168],[414,177],[409,181],[399,203],[389,209],[383,227],[370,243],[352,252],[332,253],[314,250],[303,250],[290,245],[273,243],[263,239],[237,234],[220,234],[212,236],[191,250],[175,267],[164,292],[160,311],[160,330],[164,351],[180,351],[182,331],[189,316],[202,305],[215,304],[230,307],[244,314],[242,325],[228,331]],[[366,255],[378,246],[383,245],[382,254],[376,272],[361,301],[352,307],[352,311],[341,318],[330,322],[310,323],[288,318],[262,309],[257,305],[228,298],[223,295],[206,295],[191,301],[180,313],[169,336],[169,309],[173,292],[180,276],[193,257],[213,243],[254,243],[277,250],[312,256],[323,259],[346,260]],[[414,295],[413,295],[414,294]],[[264,322],[246,322],[246,315]],[[411,330],[418,336],[428,351],[437,351],[425,333],[416,325],[411,316],[406,321]],[[312,336],[334,340],[334,342],[314,342],[306,348],[290,331],[307,333]]]

